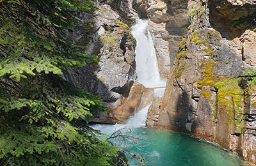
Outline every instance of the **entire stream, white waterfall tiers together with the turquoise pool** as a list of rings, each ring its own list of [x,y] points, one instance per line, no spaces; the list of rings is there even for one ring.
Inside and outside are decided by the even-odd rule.
[[[152,36],[148,30],[148,20],[137,20],[132,26],[132,35],[136,38],[136,72],[138,82],[145,87],[165,86],[165,81],[159,77],[156,53]],[[162,96],[164,88],[154,91],[155,96]],[[126,149],[134,151],[143,158],[148,166],[168,165],[216,165],[239,166],[246,165],[235,153],[228,153],[215,144],[195,138],[181,132],[145,128],[147,107],[130,117],[127,124],[93,124],[92,128],[111,135],[122,128],[124,135],[132,134],[132,140],[122,142]],[[136,160],[129,158],[131,166],[138,165]]]

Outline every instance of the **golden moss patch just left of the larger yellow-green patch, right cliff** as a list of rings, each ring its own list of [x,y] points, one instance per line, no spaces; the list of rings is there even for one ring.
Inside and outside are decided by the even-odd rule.
[[[214,80],[213,80],[214,75],[212,73],[212,66],[213,65],[214,65],[214,62],[211,59],[209,59],[205,63],[205,65],[204,65],[204,67],[201,71],[201,73],[203,74],[204,79],[198,80],[198,86],[197,86],[198,88],[202,88],[204,86],[212,86],[214,84]]]

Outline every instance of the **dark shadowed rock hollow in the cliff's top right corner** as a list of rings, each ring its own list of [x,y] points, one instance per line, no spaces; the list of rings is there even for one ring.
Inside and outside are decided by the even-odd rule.
[[[239,38],[246,29],[254,29],[255,1],[209,1],[211,26],[228,40]],[[250,19],[251,17],[251,19]],[[247,19],[246,19],[247,18]],[[249,19],[249,20],[248,20]]]

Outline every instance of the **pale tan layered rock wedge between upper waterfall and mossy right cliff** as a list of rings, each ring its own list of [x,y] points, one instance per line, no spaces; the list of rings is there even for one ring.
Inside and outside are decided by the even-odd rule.
[[[142,18],[150,20],[150,31],[156,49],[159,72],[167,78],[178,52],[182,36],[188,30],[188,1],[134,1],[134,8]]]

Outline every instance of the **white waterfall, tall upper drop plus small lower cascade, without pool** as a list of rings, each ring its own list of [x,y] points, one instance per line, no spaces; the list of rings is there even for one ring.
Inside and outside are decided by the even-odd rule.
[[[152,36],[148,28],[148,20],[136,20],[136,24],[131,27],[132,35],[136,38],[136,72],[138,73],[138,82],[145,87],[165,86],[165,81],[160,79],[159,69],[157,64],[156,51]],[[154,90],[156,96],[162,96],[164,88]],[[127,124],[95,124],[93,128],[101,130],[104,133],[111,134],[120,128],[139,128],[145,126],[147,119],[147,107],[141,109],[139,112],[130,117]]]

